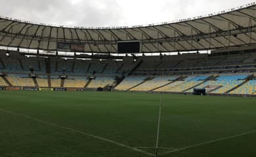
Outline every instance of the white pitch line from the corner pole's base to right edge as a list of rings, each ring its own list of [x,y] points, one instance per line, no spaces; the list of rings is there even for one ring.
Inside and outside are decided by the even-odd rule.
[[[220,139],[215,139],[215,140],[207,141],[207,142],[204,142],[204,143],[198,143],[196,145],[190,145],[188,147],[178,148],[177,150],[169,150],[167,152],[161,153],[160,156],[165,155],[165,154],[170,154],[170,153],[173,153],[173,152],[180,152],[182,150],[186,150],[186,149],[190,149],[190,148],[200,147],[200,146],[203,146],[203,145],[208,145],[208,144],[211,144],[211,143],[217,143],[219,141],[224,141],[226,139],[234,139],[236,137],[248,135],[248,134],[251,134],[251,133],[256,133],[256,130],[248,131],[248,132],[244,132],[244,133],[240,133],[240,134],[232,135],[232,136],[228,136],[228,137],[223,137],[223,138],[220,138]]]

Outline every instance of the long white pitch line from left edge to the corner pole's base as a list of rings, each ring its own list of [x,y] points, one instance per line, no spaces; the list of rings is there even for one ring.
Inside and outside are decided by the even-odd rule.
[[[0,111],[2,111],[3,113],[11,114],[11,115],[13,115],[13,116],[21,116],[21,117],[23,117],[23,118],[26,118],[26,119],[28,119],[28,120],[33,120],[33,121],[35,121],[35,122],[41,122],[41,123],[47,124],[47,125],[49,125],[49,126],[55,126],[55,127],[57,127],[57,128],[61,128],[61,129],[63,129],[63,130],[74,131],[75,133],[80,133],[80,134],[86,135],[86,136],[88,136],[88,137],[93,137],[93,138],[95,138],[95,139],[100,139],[101,141],[106,141],[106,142],[108,142],[108,143],[112,143],[112,144],[117,145],[117,146],[119,146],[119,147],[129,148],[130,150],[134,150],[134,151],[136,151],[136,152],[141,152],[141,153],[146,154],[146,155],[148,155],[148,156],[154,156],[154,154],[152,154],[152,153],[150,153],[150,152],[146,152],[146,151],[144,151],[144,150],[140,150],[139,148],[131,147],[131,146],[125,145],[125,144],[123,144],[123,143],[119,143],[119,142],[116,142],[116,141],[112,141],[112,140],[110,140],[110,139],[105,139],[104,137],[99,137],[99,136],[93,135],[93,134],[91,134],[91,133],[86,133],[86,132],[83,132],[83,131],[74,130],[74,129],[68,128],[68,127],[66,127],[66,126],[59,126],[58,124],[54,124],[54,123],[51,123],[51,122],[46,122],[46,121],[44,121],[44,120],[39,120],[39,119],[33,118],[33,117],[31,117],[31,116],[25,116],[25,115],[22,115],[22,114],[12,113],[11,111],[7,111],[7,110],[5,110],[5,109],[0,109]]]

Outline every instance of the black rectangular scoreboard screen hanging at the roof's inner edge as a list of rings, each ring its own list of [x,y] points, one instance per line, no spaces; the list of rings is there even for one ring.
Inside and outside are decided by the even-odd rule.
[[[140,53],[140,41],[120,41],[117,42],[117,53],[137,54]]]

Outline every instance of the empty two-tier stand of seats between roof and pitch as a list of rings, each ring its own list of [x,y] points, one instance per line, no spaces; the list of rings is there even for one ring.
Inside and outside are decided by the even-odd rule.
[[[1,77],[0,86],[104,88],[112,84],[115,90],[133,92],[192,93],[194,88],[206,88],[209,94],[255,94],[255,80],[247,79],[256,71],[253,53],[133,59],[126,56],[123,61],[64,60],[2,55],[0,73],[6,77]],[[66,79],[60,79],[62,76]],[[93,79],[87,79],[88,76]],[[115,77],[122,79],[117,81]]]

